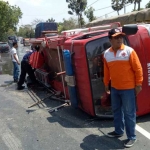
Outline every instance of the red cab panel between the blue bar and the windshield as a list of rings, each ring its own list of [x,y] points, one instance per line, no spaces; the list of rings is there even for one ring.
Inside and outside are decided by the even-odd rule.
[[[64,49],[70,50],[70,44],[69,40],[66,41]],[[72,55],[72,63],[75,73],[79,107],[86,113],[95,116],[84,42],[74,41],[73,50],[71,51],[74,53]]]

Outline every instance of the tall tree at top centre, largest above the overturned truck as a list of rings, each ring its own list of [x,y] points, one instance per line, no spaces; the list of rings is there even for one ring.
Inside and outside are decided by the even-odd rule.
[[[68,8],[71,9],[68,11],[68,14],[73,15],[74,13],[78,17],[78,25],[82,27],[84,25],[84,19],[82,13],[85,11],[87,6],[87,0],[66,0]]]

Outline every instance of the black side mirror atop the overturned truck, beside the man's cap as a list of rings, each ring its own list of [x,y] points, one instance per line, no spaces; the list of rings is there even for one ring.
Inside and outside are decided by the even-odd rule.
[[[136,34],[137,31],[138,31],[138,26],[136,24],[124,25],[122,27],[122,32],[125,33],[126,35]]]

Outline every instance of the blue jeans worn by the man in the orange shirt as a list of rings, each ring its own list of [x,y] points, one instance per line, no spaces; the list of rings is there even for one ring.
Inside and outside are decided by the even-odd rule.
[[[118,90],[111,87],[111,106],[114,114],[115,132],[123,134],[124,128],[129,140],[136,139],[135,90]]]

